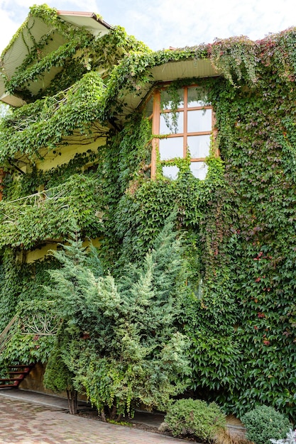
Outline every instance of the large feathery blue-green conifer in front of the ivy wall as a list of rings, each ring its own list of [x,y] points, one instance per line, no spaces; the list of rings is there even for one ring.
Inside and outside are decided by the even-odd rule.
[[[126,265],[117,279],[102,274],[96,252],[87,254],[80,241],[54,253],[62,267],[50,272],[55,285],[48,291],[60,301],[59,357],[103,420],[133,414],[137,403],[165,410],[187,387],[189,341],[176,322],[187,289],[172,225],[141,264]],[[89,340],[81,339],[83,331]]]

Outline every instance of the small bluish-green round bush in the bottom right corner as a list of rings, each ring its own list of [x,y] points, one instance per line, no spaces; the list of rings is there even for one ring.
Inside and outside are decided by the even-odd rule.
[[[246,438],[255,444],[270,444],[270,439],[285,438],[291,424],[273,407],[257,406],[242,416],[246,427]]]

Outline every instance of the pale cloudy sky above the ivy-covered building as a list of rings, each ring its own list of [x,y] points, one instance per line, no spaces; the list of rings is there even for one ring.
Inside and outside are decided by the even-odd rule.
[[[0,0],[0,53],[38,0]],[[153,50],[247,35],[264,38],[296,26],[295,0],[50,0],[62,11],[98,13]]]

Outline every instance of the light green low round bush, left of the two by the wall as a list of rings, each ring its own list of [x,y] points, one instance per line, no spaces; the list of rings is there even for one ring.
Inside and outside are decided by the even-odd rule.
[[[194,436],[197,440],[212,442],[219,429],[226,428],[226,416],[214,402],[180,399],[170,405],[165,423],[174,436]]]

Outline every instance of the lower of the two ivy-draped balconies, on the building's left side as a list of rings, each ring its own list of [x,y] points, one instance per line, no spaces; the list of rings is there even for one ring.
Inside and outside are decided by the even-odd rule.
[[[102,234],[102,192],[95,177],[74,174],[62,185],[0,202],[0,248],[31,250],[71,231]]]

